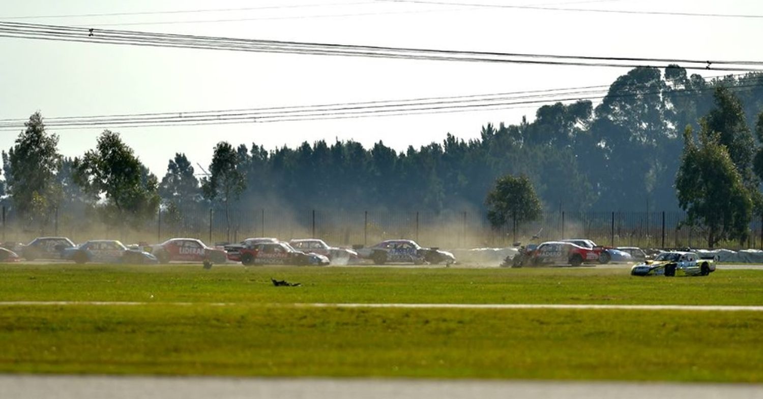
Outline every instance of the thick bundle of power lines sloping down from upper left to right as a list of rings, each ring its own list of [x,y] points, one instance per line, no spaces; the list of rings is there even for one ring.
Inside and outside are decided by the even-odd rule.
[[[665,68],[683,64],[684,69],[715,71],[763,71],[763,61],[720,59],[664,59],[623,56],[568,56],[559,54],[502,53],[485,51],[420,49],[391,46],[361,46],[337,43],[238,39],[182,34],[155,34],[132,30],[103,30],[0,21],[0,37],[36,40],[63,40],[130,46],[158,46],[186,49],[217,49],[256,53],[290,53],[320,56],[353,56],[387,59],[415,59],[459,62],[497,62],[529,65],[578,65],[636,68]]]

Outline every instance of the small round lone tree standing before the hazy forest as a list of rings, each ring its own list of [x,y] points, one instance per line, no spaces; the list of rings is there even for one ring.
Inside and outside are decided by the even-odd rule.
[[[533,183],[525,176],[513,177],[507,174],[495,181],[495,187],[485,199],[488,206],[488,221],[493,228],[512,224],[514,240],[517,240],[517,225],[537,220],[542,215],[540,199],[533,189]]]

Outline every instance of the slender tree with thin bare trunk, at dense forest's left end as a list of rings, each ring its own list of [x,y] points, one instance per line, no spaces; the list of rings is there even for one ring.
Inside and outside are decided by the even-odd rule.
[[[230,203],[237,200],[246,189],[246,179],[238,168],[241,152],[228,142],[218,142],[214,147],[209,176],[201,178],[201,192],[208,200],[221,202],[225,209],[227,241],[230,241]]]

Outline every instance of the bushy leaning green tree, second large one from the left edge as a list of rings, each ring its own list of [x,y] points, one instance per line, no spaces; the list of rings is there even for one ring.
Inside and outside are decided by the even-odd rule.
[[[107,203],[101,210],[111,225],[128,222],[137,226],[156,215],[160,200],[156,176],[118,133],[101,133],[95,150],[77,158],[73,167],[76,183],[85,193],[105,197]]]

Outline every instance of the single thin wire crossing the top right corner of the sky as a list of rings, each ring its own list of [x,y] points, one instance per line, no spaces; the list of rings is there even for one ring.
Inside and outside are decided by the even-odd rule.
[[[482,8],[513,8],[520,10],[542,10],[542,11],[565,11],[565,12],[592,12],[604,14],[636,14],[636,15],[672,15],[678,17],[705,17],[705,18],[763,18],[760,14],[719,14],[719,13],[701,13],[701,12],[679,12],[679,11],[638,11],[638,10],[611,10],[598,8],[568,8],[568,7],[549,7],[543,5],[501,5],[501,4],[479,4],[463,2],[443,2],[429,0],[377,0],[378,2],[389,3],[414,3],[425,5],[460,5],[466,7]]]

